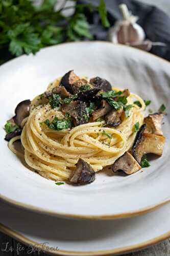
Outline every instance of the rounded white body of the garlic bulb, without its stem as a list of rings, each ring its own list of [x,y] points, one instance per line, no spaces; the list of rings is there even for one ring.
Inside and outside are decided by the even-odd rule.
[[[108,40],[114,44],[126,44],[127,42],[143,41],[144,30],[137,23],[129,23],[127,20],[120,20],[108,31]]]

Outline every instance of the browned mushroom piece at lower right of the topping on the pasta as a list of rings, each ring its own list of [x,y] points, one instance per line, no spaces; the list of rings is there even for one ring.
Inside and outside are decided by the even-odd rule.
[[[120,117],[123,111],[124,111],[123,108],[119,110],[115,110],[115,109],[111,110],[111,112],[105,116],[106,123],[113,127],[118,126],[122,122]]]

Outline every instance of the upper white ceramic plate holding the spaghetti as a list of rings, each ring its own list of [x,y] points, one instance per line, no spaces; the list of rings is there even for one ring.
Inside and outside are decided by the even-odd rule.
[[[151,99],[157,111],[169,111],[170,63],[151,54],[109,42],[77,42],[41,50],[36,56],[18,57],[0,68],[1,127],[23,99],[43,93],[47,84],[66,71],[101,76],[114,86],[129,88]],[[0,129],[1,197],[23,207],[79,218],[121,218],[146,212],[170,200],[170,124],[167,116],[163,156],[151,167],[131,176],[101,172],[85,186],[56,186],[31,172],[9,151]]]

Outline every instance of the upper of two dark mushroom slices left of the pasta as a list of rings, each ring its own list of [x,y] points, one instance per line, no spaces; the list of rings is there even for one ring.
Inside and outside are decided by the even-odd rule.
[[[23,119],[30,114],[30,103],[29,99],[21,101],[15,108],[15,116],[13,117],[14,122],[20,126]]]

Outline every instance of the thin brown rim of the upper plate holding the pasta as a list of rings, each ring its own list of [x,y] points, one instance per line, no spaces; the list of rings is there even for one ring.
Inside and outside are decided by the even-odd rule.
[[[134,47],[131,47],[131,46],[126,46],[126,45],[123,45],[123,44],[113,44],[112,42],[110,41],[102,41],[102,40],[93,40],[93,41],[72,41],[72,42],[64,42],[62,44],[58,44],[58,45],[53,45],[53,46],[48,46],[48,47],[44,47],[43,49],[41,49],[42,51],[45,50],[46,48],[52,48],[52,47],[60,47],[60,46],[63,46],[63,45],[66,45],[66,44],[79,44],[79,43],[83,43],[85,44],[85,42],[87,42],[88,44],[95,44],[95,43],[100,43],[100,44],[109,44],[109,45],[112,45],[112,46],[119,46],[119,47],[123,47],[123,48],[130,48],[130,49],[133,49],[135,51],[139,51],[140,53],[143,53],[143,54],[146,54],[146,55],[151,55],[152,57],[156,58],[156,59],[159,59],[165,63],[168,63],[168,65],[170,66],[170,62],[166,59],[163,59],[157,55],[154,55],[150,52],[145,52],[141,49],[137,49],[137,48],[134,48]],[[15,61],[16,59],[18,58],[24,58],[26,57],[27,55],[26,54],[23,54],[21,56],[18,56],[18,57],[15,57],[14,59],[11,59],[11,60],[8,60],[6,61],[3,65],[0,65],[0,69],[6,65],[8,65],[8,63],[11,63],[13,61]],[[163,206],[164,204],[167,204],[168,202],[170,202],[170,197],[168,197],[167,199],[165,199],[164,201],[161,201],[157,204],[154,204],[154,205],[151,205],[151,206],[148,206],[148,207],[144,207],[144,208],[141,208],[141,209],[138,209],[138,210],[134,210],[134,211],[129,211],[129,212],[123,212],[123,213],[120,213],[120,214],[113,214],[113,215],[99,215],[99,216],[94,216],[94,215],[75,215],[75,214],[64,214],[64,213],[58,213],[56,211],[50,211],[50,210],[46,210],[42,207],[38,207],[38,206],[33,206],[33,205],[30,205],[30,204],[25,204],[25,203],[21,203],[19,201],[16,201],[16,200],[13,200],[13,199],[10,199],[8,197],[5,197],[3,195],[0,194],[0,199],[2,199],[3,201],[9,203],[9,204],[12,204],[14,206],[17,206],[17,207],[20,207],[20,208],[23,208],[23,209],[28,209],[28,210],[32,210],[32,211],[36,211],[36,212],[39,212],[39,213],[42,213],[42,214],[47,214],[47,215],[52,215],[52,216],[57,216],[57,217],[60,217],[60,218],[71,218],[71,219],[93,219],[93,220],[113,220],[113,219],[123,219],[123,218],[129,218],[129,217],[135,217],[135,216],[139,216],[141,214],[146,214],[147,212],[150,212],[150,211],[153,211],[161,206]],[[1,223],[0,223],[1,225]],[[170,232],[170,231],[169,231]]]

